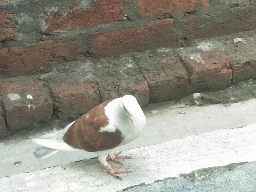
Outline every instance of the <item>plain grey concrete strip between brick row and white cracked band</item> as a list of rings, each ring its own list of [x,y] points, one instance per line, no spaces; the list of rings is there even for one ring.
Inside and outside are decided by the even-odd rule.
[[[144,109],[147,117],[144,133],[140,138],[120,149],[155,145],[190,135],[252,124],[256,122],[253,106],[256,106],[256,99],[203,107],[173,104],[173,102],[150,105]],[[36,159],[33,156],[36,145],[30,139],[58,129],[61,129],[59,121],[52,121],[48,127],[40,127],[23,135],[13,135],[2,140],[0,142],[0,177],[62,166],[84,158],[95,157],[94,154],[82,151],[58,152],[46,159]]]

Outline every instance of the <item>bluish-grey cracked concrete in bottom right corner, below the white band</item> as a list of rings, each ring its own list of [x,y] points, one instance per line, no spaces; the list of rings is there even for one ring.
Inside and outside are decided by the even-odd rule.
[[[167,178],[152,184],[132,186],[125,192],[255,192],[256,162],[234,163],[212,169],[196,170],[185,177]],[[203,171],[206,175],[198,175]],[[121,192],[120,191],[120,192]]]

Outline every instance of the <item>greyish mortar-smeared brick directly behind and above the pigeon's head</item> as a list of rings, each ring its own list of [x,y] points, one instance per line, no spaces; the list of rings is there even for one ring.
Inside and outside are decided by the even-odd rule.
[[[148,84],[130,56],[105,58],[95,64],[102,102],[133,95],[140,106],[148,105]]]

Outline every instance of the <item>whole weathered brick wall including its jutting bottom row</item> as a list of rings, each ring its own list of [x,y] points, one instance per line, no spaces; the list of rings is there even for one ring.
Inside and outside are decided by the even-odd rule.
[[[189,87],[211,88],[211,77],[220,78],[215,88],[223,88],[233,77],[243,80],[247,76],[235,72],[232,77],[230,66],[237,68],[238,74],[245,69],[239,68],[239,62],[230,64],[230,57],[220,50],[202,53],[206,60],[208,54],[221,57],[213,59],[219,65],[211,69],[210,77],[199,80],[204,71],[193,71],[197,64],[183,57],[181,51],[167,63],[157,61],[161,68],[150,61],[155,73],[146,70],[143,62],[132,64],[136,58],[114,59],[115,63],[107,57],[163,46],[186,47],[198,38],[254,29],[256,2],[252,0],[0,0],[0,130],[5,130],[4,120],[10,130],[26,129],[48,121],[53,111],[61,119],[76,118],[96,104],[125,93],[136,95],[142,105],[147,105],[148,100],[160,102],[184,96]],[[79,70],[77,63],[82,65]],[[175,76],[161,73],[169,65],[178,70]],[[113,70],[105,73],[102,67],[125,70],[111,74]],[[159,97],[158,93],[166,89],[175,94]],[[18,100],[15,94],[21,98]],[[27,100],[30,94],[37,99]],[[70,114],[74,104],[82,109]],[[42,110],[44,114],[40,114]],[[20,124],[19,115],[24,123]],[[4,131],[0,132],[3,136]]]

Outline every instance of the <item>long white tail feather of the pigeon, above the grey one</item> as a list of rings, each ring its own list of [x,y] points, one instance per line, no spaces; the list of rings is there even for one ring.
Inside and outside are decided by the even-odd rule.
[[[77,151],[80,149],[76,149],[65,143],[63,140],[52,140],[52,139],[32,139],[32,141],[38,145],[56,149],[56,150],[62,150],[62,151]]]

